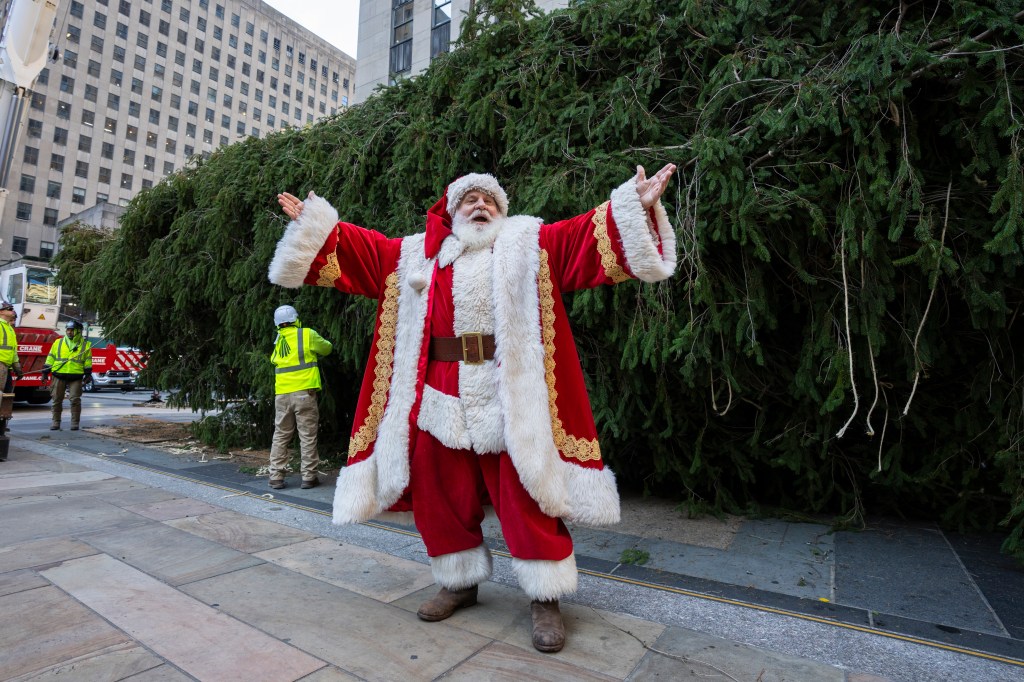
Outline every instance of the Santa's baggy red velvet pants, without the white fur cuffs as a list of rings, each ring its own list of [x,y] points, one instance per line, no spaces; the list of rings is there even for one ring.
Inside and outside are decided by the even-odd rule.
[[[483,505],[488,500],[513,557],[561,561],[572,553],[565,524],[541,511],[522,486],[508,453],[452,450],[420,431],[411,467],[413,517],[429,556],[480,547]]]

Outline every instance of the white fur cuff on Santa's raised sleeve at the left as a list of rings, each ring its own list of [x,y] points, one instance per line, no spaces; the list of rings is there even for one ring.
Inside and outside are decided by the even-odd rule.
[[[302,286],[313,259],[338,224],[338,212],[322,197],[306,199],[302,207],[298,219],[285,228],[267,268],[270,282],[289,289]]]

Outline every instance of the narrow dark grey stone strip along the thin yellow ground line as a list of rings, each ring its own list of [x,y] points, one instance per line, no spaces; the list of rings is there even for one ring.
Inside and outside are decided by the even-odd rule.
[[[90,443],[92,446],[88,447],[88,451],[92,454],[116,454],[116,457],[110,458],[112,462],[123,462],[128,465],[182,477],[186,480],[195,479],[225,489],[233,489],[240,494],[247,494],[252,497],[259,497],[261,493],[269,492],[264,487],[265,479],[248,474],[240,474],[238,472],[238,465],[229,463],[215,462],[199,464],[193,461],[182,464],[174,462],[174,456],[166,453],[120,441],[120,450],[128,449],[127,453],[122,454],[118,453],[118,449],[109,446],[104,449],[103,440],[93,440],[92,438],[76,439],[74,447],[79,451],[87,450],[83,445],[89,442],[89,440],[92,440]],[[60,446],[65,443],[49,444]],[[173,464],[167,466],[169,462],[173,462]],[[295,477],[295,482],[297,483],[297,481],[298,479]],[[293,506],[300,510],[309,509],[324,515],[330,515],[330,502],[310,499],[308,497],[310,493],[319,493],[323,495],[323,488],[300,492],[296,485],[295,488],[290,487],[285,488],[285,491],[272,492],[274,502]],[[375,521],[371,525],[406,535],[415,532],[415,530],[411,530],[406,526],[388,522]],[[487,539],[487,543],[495,551],[507,551],[501,540]],[[703,550],[706,548],[698,549]],[[954,651],[958,649],[968,652],[979,651],[1024,665],[1024,641],[1019,639],[998,637],[971,629],[952,628],[900,614],[870,613],[867,608],[856,605],[851,606],[817,599],[805,599],[755,587],[737,586],[645,566],[624,565],[606,558],[591,557],[586,554],[578,554],[577,561],[582,571],[597,578],[610,578],[613,581],[624,581],[640,587],[653,587],[696,598],[718,600],[732,605],[753,607],[779,614],[790,614],[798,619],[806,617],[817,623],[849,626],[868,634],[895,636],[899,639],[925,644],[936,643],[939,646],[949,647]],[[877,611],[878,609],[874,610]]]

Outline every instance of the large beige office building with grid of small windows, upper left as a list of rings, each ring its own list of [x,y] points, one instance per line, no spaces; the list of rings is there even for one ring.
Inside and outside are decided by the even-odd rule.
[[[355,61],[258,0],[61,0],[0,216],[0,261],[194,155],[347,106]]]

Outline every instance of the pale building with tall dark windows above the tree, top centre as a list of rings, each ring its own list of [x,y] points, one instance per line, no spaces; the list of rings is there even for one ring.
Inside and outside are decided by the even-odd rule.
[[[451,49],[473,0],[361,0],[359,2],[359,69],[355,102],[379,85],[422,72],[430,60]],[[569,0],[536,0],[551,11]]]

